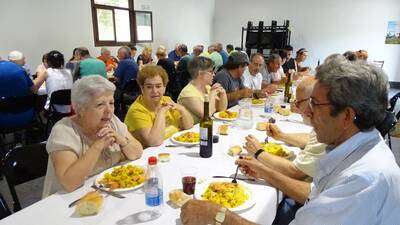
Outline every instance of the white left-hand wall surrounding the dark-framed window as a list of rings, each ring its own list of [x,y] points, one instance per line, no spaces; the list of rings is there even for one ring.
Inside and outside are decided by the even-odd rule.
[[[175,43],[208,44],[212,35],[214,0],[135,0],[135,8],[153,11],[154,48]],[[22,51],[31,69],[43,53],[57,49],[65,58],[75,47],[94,46],[90,0],[0,0],[0,57],[12,50]],[[143,46],[143,44],[138,45]],[[115,51],[116,48],[110,48]]]

